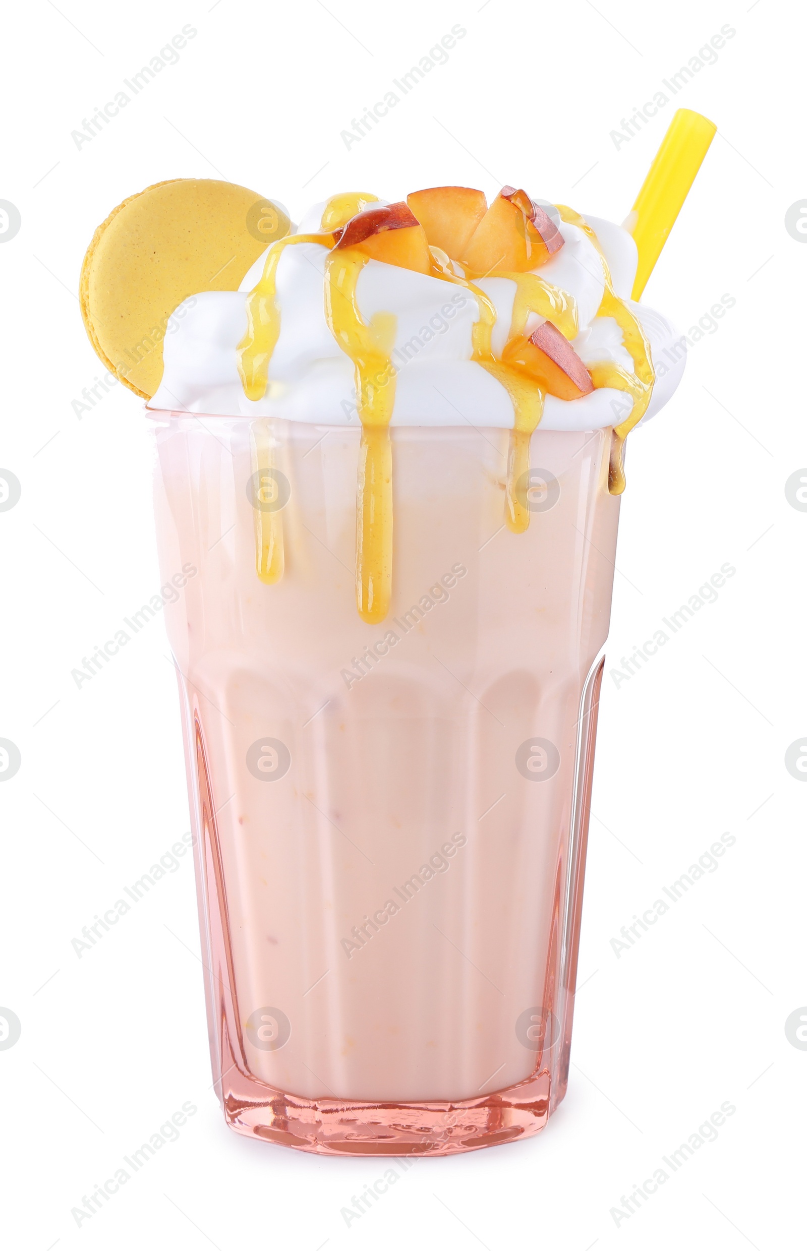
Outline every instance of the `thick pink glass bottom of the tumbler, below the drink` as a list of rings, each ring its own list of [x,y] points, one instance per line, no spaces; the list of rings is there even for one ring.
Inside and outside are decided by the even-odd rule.
[[[308,1100],[238,1073],[223,1082],[228,1125],[246,1137],[325,1156],[452,1156],[528,1138],[549,1118],[549,1073],[455,1103]],[[249,1091],[249,1093],[248,1093]]]

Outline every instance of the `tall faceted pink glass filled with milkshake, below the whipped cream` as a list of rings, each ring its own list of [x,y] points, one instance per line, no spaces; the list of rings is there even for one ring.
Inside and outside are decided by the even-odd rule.
[[[517,534],[509,432],[393,429],[372,626],[358,429],[150,417],[228,1123],[355,1155],[537,1132],[569,1063],[611,432],[535,432]]]

